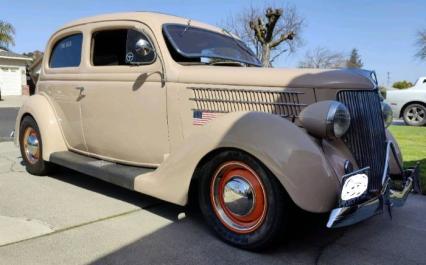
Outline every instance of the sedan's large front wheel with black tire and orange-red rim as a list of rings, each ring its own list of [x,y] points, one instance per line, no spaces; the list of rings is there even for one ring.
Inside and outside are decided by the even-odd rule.
[[[258,250],[286,228],[289,199],[275,176],[252,156],[224,151],[199,176],[201,211],[225,242]]]

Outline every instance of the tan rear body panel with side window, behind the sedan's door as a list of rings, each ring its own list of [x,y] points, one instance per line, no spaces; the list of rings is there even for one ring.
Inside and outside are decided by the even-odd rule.
[[[81,120],[79,74],[82,69],[83,30],[61,31],[49,42],[38,92],[47,96],[71,150],[87,151]]]

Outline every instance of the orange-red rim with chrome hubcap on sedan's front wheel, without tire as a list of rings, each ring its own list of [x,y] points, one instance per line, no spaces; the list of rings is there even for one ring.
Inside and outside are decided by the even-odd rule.
[[[235,233],[255,231],[266,216],[264,185],[256,172],[241,162],[227,162],[216,170],[210,201],[221,223]]]

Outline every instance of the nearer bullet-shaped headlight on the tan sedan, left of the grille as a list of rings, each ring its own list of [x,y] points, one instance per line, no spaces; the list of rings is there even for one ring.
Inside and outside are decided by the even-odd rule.
[[[320,101],[300,113],[303,127],[320,138],[338,138],[349,129],[351,117],[345,105],[337,101]]]

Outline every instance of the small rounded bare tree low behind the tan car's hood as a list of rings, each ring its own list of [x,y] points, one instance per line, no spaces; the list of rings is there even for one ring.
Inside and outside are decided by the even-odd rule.
[[[300,68],[341,68],[346,63],[345,56],[324,47],[308,51],[305,58],[299,62]]]

